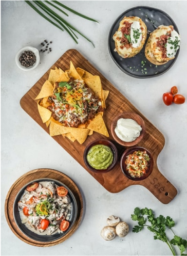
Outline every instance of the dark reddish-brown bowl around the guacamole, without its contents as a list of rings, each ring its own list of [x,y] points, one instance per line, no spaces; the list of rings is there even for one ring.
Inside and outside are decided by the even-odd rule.
[[[113,162],[110,164],[110,166],[108,166],[106,169],[95,169],[94,167],[92,167],[87,160],[87,154],[89,152],[89,150],[96,146],[96,145],[104,145],[110,148],[111,152],[113,153]],[[111,142],[110,140],[107,139],[98,139],[95,141],[90,142],[87,147],[84,150],[84,163],[86,165],[86,167],[93,172],[96,173],[106,173],[108,171],[111,171],[117,164],[118,162],[118,150],[116,148],[116,146],[114,145],[113,142]]]

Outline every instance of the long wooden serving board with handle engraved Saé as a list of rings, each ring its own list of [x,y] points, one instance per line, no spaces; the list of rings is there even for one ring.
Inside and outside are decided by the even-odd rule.
[[[93,75],[99,75],[101,78],[102,86],[104,90],[109,90],[109,95],[106,100],[106,110],[103,115],[104,122],[107,126],[110,137],[109,140],[113,140],[110,132],[110,125],[113,121],[113,117],[123,111],[134,112],[140,115],[145,122],[145,135],[143,140],[137,145],[149,150],[154,157],[154,168],[152,174],[143,181],[132,181],[128,180],[120,169],[118,162],[115,169],[110,172],[100,174],[92,173],[89,171],[83,160],[83,153],[85,147],[89,142],[105,138],[105,136],[94,132],[93,135],[88,136],[86,141],[80,145],[79,142],[71,142],[68,138],[63,138],[62,135],[53,136],[56,140],[74,159],[77,160],[91,175],[94,177],[105,189],[111,193],[118,193],[130,185],[142,185],[146,187],[151,193],[159,199],[162,203],[169,203],[176,195],[176,188],[168,181],[164,175],[158,170],[157,157],[164,147],[165,139],[164,136],[158,131],[158,129],[149,122],[140,111],[130,103],[123,94],[121,94],[91,63],[77,50],[70,49],[65,52],[58,60],[54,63],[51,69],[55,67],[61,68],[62,70],[68,70],[70,66],[70,60],[74,67],[80,67]],[[50,70],[48,70],[39,81],[23,96],[20,101],[22,108],[30,115],[48,134],[49,128],[46,124],[43,124],[42,119],[38,112],[37,101],[35,97],[39,94],[42,85],[48,79]],[[119,151],[119,159],[121,153],[125,150],[124,147],[116,145]]]

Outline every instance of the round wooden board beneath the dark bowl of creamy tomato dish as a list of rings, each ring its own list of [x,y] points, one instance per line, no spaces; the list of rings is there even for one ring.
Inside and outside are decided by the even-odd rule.
[[[69,230],[69,232],[67,232],[67,234],[65,234],[63,237],[55,241],[46,242],[46,243],[35,241],[27,237],[24,233],[22,233],[22,231],[17,227],[16,222],[14,220],[14,216],[13,216],[14,200],[18,192],[22,189],[22,187],[24,187],[25,184],[29,183],[32,180],[45,179],[45,178],[57,180],[65,184],[72,191],[78,205],[78,215],[77,215],[76,221],[74,222],[74,225]],[[64,242],[77,230],[77,228],[81,223],[82,215],[83,215],[83,199],[82,199],[82,195],[80,193],[79,188],[67,175],[53,169],[35,169],[25,173],[24,175],[22,175],[22,177],[16,180],[14,184],[11,186],[5,200],[5,216],[10,229],[23,242],[33,246],[49,247],[49,246],[58,245]]]

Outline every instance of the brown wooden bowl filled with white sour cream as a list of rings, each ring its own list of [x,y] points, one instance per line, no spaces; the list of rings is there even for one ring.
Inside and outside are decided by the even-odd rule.
[[[143,118],[136,113],[123,112],[117,115],[111,123],[111,134],[120,145],[135,146],[145,134]]]

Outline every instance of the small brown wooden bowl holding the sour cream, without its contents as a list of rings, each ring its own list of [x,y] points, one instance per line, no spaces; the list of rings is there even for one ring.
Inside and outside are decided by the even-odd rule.
[[[140,132],[140,136],[138,138],[136,138],[134,141],[126,142],[126,141],[121,140],[116,135],[115,128],[116,128],[116,125],[117,125],[117,121],[120,118],[133,119],[142,127],[142,131]],[[111,135],[116,140],[116,142],[118,142],[120,145],[122,145],[124,147],[133,147],[133,146],[137,145],[143,139],[144,134],[145,134],[145,123],[144,123],[143,119],[138,114],[136,114],[134,112],[123,112],[123,113],[117,115],[114,118],[113,122],[111,123]]]

